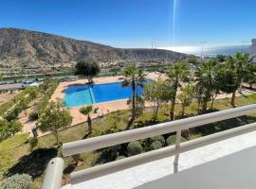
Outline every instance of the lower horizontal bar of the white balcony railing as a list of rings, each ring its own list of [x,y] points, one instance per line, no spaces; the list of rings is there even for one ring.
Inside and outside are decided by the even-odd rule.
[[[212,143],[229,139],[230,137],[238,136],[254,130],[256,130],[256,123],[248,124],[246,126],[236,128],[236,129],[229,129],[216,134],[211,134],[202,138],[198,138],[189,142],[182,143],[180,145],[179,152],[183,153],[186,151],[190,151],[192,149],[195,149],[201,146],[207,146]],[[83,169],[81,171],[71,173],[71,183],[78,183],[85,180],[95,179],[104,175],[108,175],[108,174],[115,173],[127,168],[137,166],[139,164],[150,163],[150,162],[168,158],[174,155],[176,155],[175,146],[163,147],[163,148],[142,153],[130,158],[122,159],[112,163],[101,164],[98,166],[94,166],[92,168]]]

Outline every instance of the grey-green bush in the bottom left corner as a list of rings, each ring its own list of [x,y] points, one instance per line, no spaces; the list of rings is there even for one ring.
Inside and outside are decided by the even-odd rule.
[[[32,178],[27,174],[16,174],[0,182],[1,189],[31,189]]]

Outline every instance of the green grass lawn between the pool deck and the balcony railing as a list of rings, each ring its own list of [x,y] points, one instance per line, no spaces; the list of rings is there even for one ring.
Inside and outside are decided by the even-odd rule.
[[[237,106],[245,106],[256,102],[256,94],[249,96],[241,96],[236,98]],[[197,110],[196,103],[192,103],[190,107],[186,109],[186,113],[189,115],[195,115]],[[214,109],[225,110],[231,108],[229,106],[229,99],[216,100],[214,103]],[[165,122],[169,120],[168,116],[169,107],[162,107],[158,115],[158,122]],[[178,115],[181,112],[180,105],[175,108],[175,114]],[[93,136],[99,136],[101,134],[118,132],[127,128],[127,121],[129,117],[129,111],[113,112],[103,118],[99,118],[93,121]],[[243,116],[240,118],[233,118],[227,121],[210,124],[211,126],[201,126],[196,129],[191,129],[190,134],[186,137],[186,140],[191,140],[200,136],[204,136],[224,129],[231,129],[245,125],[256,120],[256,113],[249,116]],[[152,125],[151,122],[151,108],[145,110],[138,120],[139,124],[135,127],[145,127]],[[81,140],[86,137],[87,125],[81,124],[76,127],[64,129],[60,132],[61,141],[63,143]],[[38,146],[32,151],[27,143],[27,134],[20,134],[10,137],[8,140],[0,143],[0,180],[4,177],[8,177],[15,173],[27,173],[34,179],[33,188],[40,188],[42,180],[44,178],[44,171],[46,169],[46,163],[50,159],[56,156],[61,156],[62,151],[59,148],[55,148],[55,138],[52,134],[39,138]],[[82,153],[81,158],[83,160],[82,165],[74,167],[72,165],[72,158],[64,158],[66,167],[64,168],[64,183],[68,182],[67,175],[74,169],[83,169],[93,166],[97,163],[107,162],[104,159],[103,151],[98,150],[95,152]]]

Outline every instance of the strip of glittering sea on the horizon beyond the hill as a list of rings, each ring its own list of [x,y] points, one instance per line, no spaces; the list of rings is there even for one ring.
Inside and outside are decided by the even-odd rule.
[[[250,45],[223,45],[223,46],[174,46],[162,47],[160,49],[190,54],[198,57],[215,57],[217,55],[232,56],[237,52],[249,53]],[[203,53],[202,53],[203,52]]]

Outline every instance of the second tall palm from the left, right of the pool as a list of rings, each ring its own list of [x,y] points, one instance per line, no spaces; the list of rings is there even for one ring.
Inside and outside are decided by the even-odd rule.
[[[181,88],[182,82],[189,82],[191,79],[191,71],[190,66],[186,62],[175,62],[166,73],[168,79],[167,81],[170,83],[174,90],[173,96],[171,98],[171,109],[170,109],[170,118],[174,120],[174,107],[176,101],[177,90]]]

